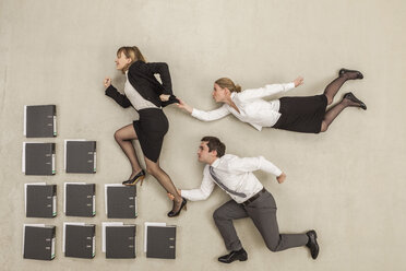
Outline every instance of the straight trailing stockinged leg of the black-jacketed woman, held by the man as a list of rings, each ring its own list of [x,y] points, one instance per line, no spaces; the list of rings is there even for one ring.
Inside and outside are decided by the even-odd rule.
[[[168,193],[174,195],[175,199],[174,199],[172,211],[178,211],[182,203],[182,197],[180,197],[180,195],[178,193],[178,190],[176,189],[172,180],[160,168],[159,161],[155,163],[148,160],[147,157],[144,157],[144,160],[145,160],[145,165],[146,165],[146,172],[151,174],[152,176],[154,176]]]

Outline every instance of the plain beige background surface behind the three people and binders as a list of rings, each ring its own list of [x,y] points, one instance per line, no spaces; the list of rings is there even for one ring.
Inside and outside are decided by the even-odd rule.
[[[402,270],[405,254],[406,158],[406,2],[361,1],[0,1],[1,121],[1,270]],[[345,110],[324,134],[274,129],[259,132],[234,117],[204,123],[175,106],[165,109],[170,130],[162,166],[180,188],[200,185],[203,165],[196,146],[205,134],[219,137],[229,153],[264,155],[288,178],[256,176],[274,195],[282,232],[315,228],[321,252],[313,261],[306,248],[282,252],[266,249],[250,220],[236,222],[249,254],[247,262],[222,266],[223,240],[213,211],[228,200],[218,188],[204,202],[189,202],[178,219],[153,177],[139,189],[140,216],[135,260],[106,260],[100,249],[104,184],[119,182],[130,166],[114,141],[114,132],[136,118],[104,95],[101,81],[115,70],[116,50],[138,45],[148,61],[170,66],[174,91],[192,105],[212,109],[214,80],[230,76],[242,87],[289,82],[304,85],[289,95],[313,95],[339,68],[359,69],[362,81],[347,82],[368,110]],[[23,106],[56,104],[57,175],[21,173]],[[63,173],[63,140],[97,140],[97,173]],[[28,140],[28,141],[44,141]],[[138,146],[138,150],[139,146]],[[53,220],[24,215],[24,182],[58,184],[59,214]],[[62,213],[63,181],[97,184],[97,215],[67,217]],[[65,258],[62,223],[97,225],[96,258]],[[116,220],[112,220],[116,221]],[[147,259],[142,251],[145,221],[178,226],[177,259]],[[23,260],[23,223],[57,225],[57,258]]]

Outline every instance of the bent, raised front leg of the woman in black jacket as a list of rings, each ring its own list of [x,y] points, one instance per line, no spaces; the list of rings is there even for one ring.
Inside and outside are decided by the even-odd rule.
[[[130,161],[132,173],[129,179],[131,179],[139,172],[141,172],[141,166],[136,157],[135,149],[131,142],[131,140],[138,139],[133,125],[128,125],[117,130],[115,132],[115,139]]]

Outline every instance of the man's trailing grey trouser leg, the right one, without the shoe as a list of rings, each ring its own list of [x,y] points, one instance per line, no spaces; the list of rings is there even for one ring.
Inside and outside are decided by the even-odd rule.
[[[264,192],[247,205],[246,210],[271,251],[280,251],[308,244],[309,237],[307,234],[279,234],[276,221],[276,203],[270,192]]]

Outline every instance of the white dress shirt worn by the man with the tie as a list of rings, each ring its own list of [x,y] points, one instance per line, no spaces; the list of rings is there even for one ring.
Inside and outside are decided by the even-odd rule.
[[[272,173],[276,176],[282,174],[282,170],[277,168],[270,161],[263,156],[259,157],[244,157],[240,158],[232,154],[226,154],[220,158],[217,158],[212,164],[213,170],[217,178],[228,189],[244,193],[246,197],[239,197],[227,192],[237,203],[244,202],[255,193],[262,190],[263,186],[258,180],[252,172],[261,169],[267,173]],[[214,180],[210,174],[210,165],[206,165],[203,169],[202,185],[198,189],[181,190],[181,196],[188,200],[205,200],[212,193],[216,180]]]

